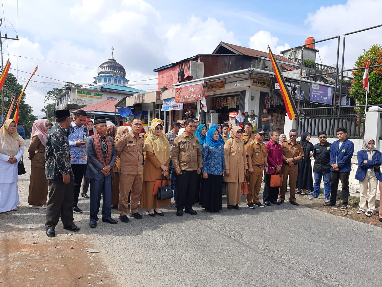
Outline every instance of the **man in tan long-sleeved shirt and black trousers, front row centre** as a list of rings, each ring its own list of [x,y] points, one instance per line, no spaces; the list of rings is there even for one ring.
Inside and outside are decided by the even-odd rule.
[[[186,213],[196,215],[193,210],[197,175],[203,167],[202,147],[199,138],[193,135],[194,119],[185,120],[186,131],[175,138],[172,145],[172,163],[176,172],[176,215]]]

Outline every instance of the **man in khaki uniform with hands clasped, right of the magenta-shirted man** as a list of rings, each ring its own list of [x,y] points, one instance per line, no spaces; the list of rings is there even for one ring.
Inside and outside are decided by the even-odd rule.
[[[289,202],[294,205],[299,205],[296,202],[296,181],[298,173],[297,163],[303,158],[303,146],[301,143],[296,142],[298,137],[298,130],[291,129],[289,132],[289,139],[286,142],[282,142],[281,148],[283,150],[283,166],[281,167],[281,173],[283,174],[283,186],[280,188],[280,196],[278,197],[278,203],[285,201],[286,186],[289,176]]]

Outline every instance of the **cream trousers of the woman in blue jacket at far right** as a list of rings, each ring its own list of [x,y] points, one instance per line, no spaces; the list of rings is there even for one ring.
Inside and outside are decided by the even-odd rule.
[[[359,209],[362,209],[363,212],[371,211],[373,212],[376,209],[376,194],[377,194],[377,184],[378,179],[376,174],[374,173],[374,169],[370,172],[366,171],[366,176],[363,181],[359,181],[359,185],[361,186],[361,197],[359,198]],[[369,208],[366,209],[366,198],[367,198],[367,190],[369,190]]]

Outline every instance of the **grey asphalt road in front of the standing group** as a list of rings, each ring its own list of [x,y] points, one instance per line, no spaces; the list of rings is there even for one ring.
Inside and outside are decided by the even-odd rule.
[[[28,184],[29,172],[20,176],[20,210],[29,210],[27,228],[43,234],[44,211],[26,208]],[[177,217],[174,205],[162,209],[164,217],[139,210],[142,220],[116,225],[100,220],[91,229],[89,200],[81,197],[84,213],[75,214],[74,223],[80,233],[94,236],[121,286],[379,286],[382,281],[375,264],[382,228],[288,201],[256,209],[246,207],[244,196],[241,201],[242,209],[231,211],[223,197],[221,212],[197,206],[196,216]],[[117,210],[112,217],[118,219]],[[68,233],[62,223],[56,232]]]

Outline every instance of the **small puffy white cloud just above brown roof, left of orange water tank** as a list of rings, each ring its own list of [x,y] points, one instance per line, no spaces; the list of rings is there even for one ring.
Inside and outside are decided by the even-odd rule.
[[[264,30],[257,32],[251,38],[249,38],[248,45],[249,48],[259,51],[267,51],[267,47],[269,45],[270,49],[275,55],[279,54],[280,51],[290,48],[288,43],[285,43],[284,45],[278,45],[278,38],[272,36],[269,31]]]

